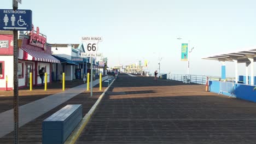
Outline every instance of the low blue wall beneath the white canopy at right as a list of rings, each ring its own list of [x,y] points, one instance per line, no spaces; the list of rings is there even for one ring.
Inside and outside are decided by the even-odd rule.
[[[256,102],[256,91],[253,91],[254,87],[255,86],[235,83],[234,95],[232,97]],[[210,92],[219,93],[219,88],[220,88],[219,81],[210,81],[209,88],[210,88]],[[223,93],[223,94],[231,96],[229,93]]]

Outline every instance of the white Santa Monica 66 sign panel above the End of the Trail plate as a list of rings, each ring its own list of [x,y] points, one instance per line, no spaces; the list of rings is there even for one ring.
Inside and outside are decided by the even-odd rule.
[[[102,37],[82,37],[82,42],[86,43],[86,53],[96,53],[98,51],[98,42],[102,41]]]

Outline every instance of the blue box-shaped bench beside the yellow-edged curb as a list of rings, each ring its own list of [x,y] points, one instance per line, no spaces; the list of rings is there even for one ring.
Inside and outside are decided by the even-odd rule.
[[[82,105],[66,105],[43,121],[43,144],[64,143],[82,120]]]

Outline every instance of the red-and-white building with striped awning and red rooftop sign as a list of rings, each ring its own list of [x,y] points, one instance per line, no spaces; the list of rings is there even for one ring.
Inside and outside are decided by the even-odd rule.
[[[39,28],[37,27],[37,30]],[[40,85],[41,80],[38,71],[44,68],[47,73],[47,81],[53,77],[53,64],[60,63],[51,55],[51,45],[47,43],[46,35],[36,31],[19,32],[18,39],[18,80],[19,88],[30,86],[30,73],[32,73],[32,85]],[[13,32],[0,31],[0,90],[5,89],[5,81],[8,77],[7,89],[13,89]]]

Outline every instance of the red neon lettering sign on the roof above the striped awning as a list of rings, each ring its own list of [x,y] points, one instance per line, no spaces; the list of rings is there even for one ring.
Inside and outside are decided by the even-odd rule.
[[[32,30],[30,31],[30,44],[33,43],[33,41],[38,41],[42,43],[40,47],[44,49],[44,44],[46,43],[46,38],[43,37],[43,35],[39,35],[39,27],[37,27],[37,33],[34,33],[34,25],[32,25]]]

